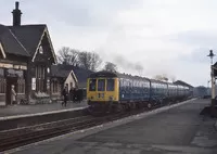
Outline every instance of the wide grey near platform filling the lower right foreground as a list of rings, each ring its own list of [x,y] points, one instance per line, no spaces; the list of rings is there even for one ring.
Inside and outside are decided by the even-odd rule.
[[[216,154],[216,119],[200,115],[201,110],[207,104],[206,100],[195,100],[113,128],[104,125],[105,130],[99,132],[94,129],[80,131],[11,152]]]

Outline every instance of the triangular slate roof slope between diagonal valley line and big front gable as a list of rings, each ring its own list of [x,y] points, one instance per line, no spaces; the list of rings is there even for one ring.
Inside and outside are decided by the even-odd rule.
[[[38,25],[21,25],[21,26],[8,26],[9,29],[17,37],[22,44],[27,49],[30,56],[34,56],[38,47],[39,40],[43,34],[46,24]]]

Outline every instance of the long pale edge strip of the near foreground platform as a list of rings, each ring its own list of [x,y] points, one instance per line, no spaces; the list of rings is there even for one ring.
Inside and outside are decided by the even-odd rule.
[[[39,142],[35,142],[35,143],[27,144],[27,145],[24,145],[24,146],[20,146],[20,147],[16,147],[16,149],[12,149],[12,150],[9,150],[9,151],[4,151],[4,154],[15,153],[15,152],[23,151],[25,149],[31,147],[33,145],[36,146],[38,144],[51,142],[51,141],[54,141],[54,140],[61,140],[61,139],[64,139],[64,138],[67,138],[67,137],[72,137],[73,134],[78,134],[77,139],[84,138],[85,136],[89,136],[89,134],[97,133],[97,132],[102,131],[102,130],[106,130],[108,128],[120,126],[123,124],[130,123],[130,121],[132,121],[135,119],[145,118],[145,117],[149,117],[151,115],[155,115],[155,114],[168,111],[170,108],[178,107],[180,105],[187,104],[187,103],[192,102],[194,100],[196,100],[196,99],[191,99],[191,100],[178,103],[178,104],[164,106],[164,107],[156,108],[156,110],[153,110],[153,111],[150,111],[150,112],[144,112],[144,113],[141,113],[141,114],[138,114],[138,115],[133,115],[133,116],[130,116],[130,117],[125,117],[125,118],[122,118],[122,119],[117,119],[117,120],[110,121],[110,123],[106,123],[106,124],[102,124],[102,125],[99,125],[99,126],[94,126],[94,127],[91,127],[91,128],[87,128],[87,129],[69,132],[69,133],[62,134],[62,136],[59,136],[59,137],[53,137],[53,138],[50,138],[50,139],[46,139],[43,141],[39,141]],[[74,140],[77,140],[77,139],[75,137]]]

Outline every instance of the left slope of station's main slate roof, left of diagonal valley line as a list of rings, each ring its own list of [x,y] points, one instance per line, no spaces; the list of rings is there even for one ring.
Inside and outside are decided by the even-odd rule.
[[[16,54],[29,56],[27,50],[21,44],[14,34],[4,25],[0,25],[0,42],[4,49],[5,54]]]

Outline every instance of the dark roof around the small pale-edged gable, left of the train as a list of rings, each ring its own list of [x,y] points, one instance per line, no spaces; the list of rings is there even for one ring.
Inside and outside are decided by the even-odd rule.
[[[59,65],[52,65],[51,66],[51,74],[52,76],[56,77],[67,77],[71,70],[74,72],[77,80],[78,80],[78,87],[79,88],[86,88],[87,87],[87,78],[90,74],[93,72],[87,70],[77,66],[73,65],[65,65],[65,64],[59,64]]]

